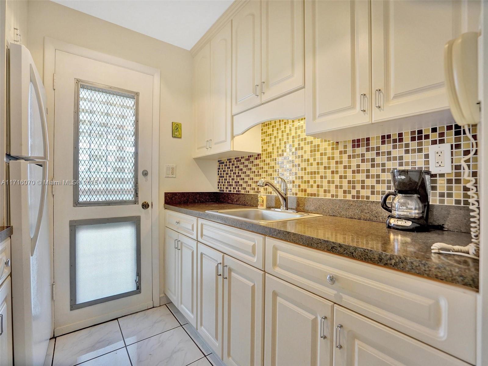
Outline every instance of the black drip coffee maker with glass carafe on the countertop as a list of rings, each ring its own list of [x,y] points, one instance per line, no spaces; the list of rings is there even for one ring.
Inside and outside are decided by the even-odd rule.
[[[386,227],[407,231],[427,230],[430,171],[397,169],[390,174],[394,191],[386,192],[381,200],[381,207],[391,213]],[[388,205],[386,200],[390,196],[393,199]]]

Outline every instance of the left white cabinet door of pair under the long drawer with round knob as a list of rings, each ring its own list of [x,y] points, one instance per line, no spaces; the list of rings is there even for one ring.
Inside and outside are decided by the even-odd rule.
[[[334,304],[269,274],[265,292],[264,365],[332,365]]]

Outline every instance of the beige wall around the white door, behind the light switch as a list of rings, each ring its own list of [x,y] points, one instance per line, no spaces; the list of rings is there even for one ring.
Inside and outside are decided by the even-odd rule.
[[[27,47],[40,73],[43,70],[44,37],[161,70],[159,199],[160,243],[163,243],[163,192],[217,189],[217,162],[197,162],[191,157],[193,59],[190,52],[51,1],[28,1],[28,27]],[[44,75],[44,78],[49,77],[51,76]],[[172,121],[183,123],[182,139],[171,137]],[[177,165],[177,178],[164,178],[164,164]],[[160,249],[160,262],[163,263],[163,247],[161,246]],[[163,288],[163,278],[161,278],[161,288]]]

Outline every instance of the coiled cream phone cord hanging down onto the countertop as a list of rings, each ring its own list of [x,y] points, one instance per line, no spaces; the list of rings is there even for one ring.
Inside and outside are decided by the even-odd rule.
[[[468,136],[471,141],[471,151],[468,155],[461,159],[461,164],[463,165],[463,179],[468,181],[466,186],[469,188],[469,208],[471,212],[471,243],[466,246],[461,245],[449,245],[446,243],[435,243],[430,248],[432,253],[445,253],[445,254],[458,254],[469,258],[479,259],[479,249],[480,249],[480,210],[478,205],[478,193],[476,193],[476,180],[469,174],[468,164],[466,163],[476,152],[476,141],[471,135],[468,125],[464,126],[464,131],[466,136]]]

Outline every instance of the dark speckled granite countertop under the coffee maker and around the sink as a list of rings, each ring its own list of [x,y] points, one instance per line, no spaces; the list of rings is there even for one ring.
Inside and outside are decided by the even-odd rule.
[[[251,208],[229,203],[173,203],[164,204],[164,208],[367,263],[478,289],[479,261],[430,252],[430,245],[436,242],[468,244],[471,236],[467,233],[441,230],[414,233],[387,229],[384,223],[334,216],[254,224],[205,212]]]

